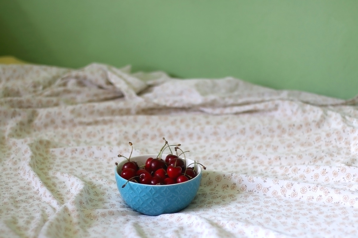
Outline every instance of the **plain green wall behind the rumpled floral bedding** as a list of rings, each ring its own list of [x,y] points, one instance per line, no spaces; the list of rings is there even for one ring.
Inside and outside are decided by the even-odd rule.
[[[0,0],[0,55],[358,94],[357,0]]]

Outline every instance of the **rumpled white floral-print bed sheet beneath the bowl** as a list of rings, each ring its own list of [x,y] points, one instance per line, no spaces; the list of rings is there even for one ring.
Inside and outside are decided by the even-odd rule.
[[[357,237],[357,98],[105,64],[11,62],[0,85],[1,237]],[[113,171],[162,137],[207,169],[145,216]]]

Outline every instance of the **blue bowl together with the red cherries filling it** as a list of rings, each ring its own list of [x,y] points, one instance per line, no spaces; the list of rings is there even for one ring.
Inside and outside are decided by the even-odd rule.
[[[165,140],[163,138],[163,140]],[[132,143],[129,142],[132,147]],[[149,216],[175,213],[187,207],[198,192],[202,164],[186,158],[178,145],[165,145],[159,154],[126,158],[116,163],[118,191],[134,211]],[[171,150],[173,147],[174,150]],[[169,149],[170,153],[164,154]],[[174,151],[174,152],[173,152]]]

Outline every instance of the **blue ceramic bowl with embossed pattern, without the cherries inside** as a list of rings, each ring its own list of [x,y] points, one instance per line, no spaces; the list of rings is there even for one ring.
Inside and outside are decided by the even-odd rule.
[[[131,161],[142,162],[145,164],[147,158],[156,158],[156,156],[157,155],[142,155],[132,157]],[[162,158],[165,158],[165,156],[166,155],[163,155]],[[201,167],[195,166],[197,176],[183,183],[170,185],[147,185],[128,182],[127,185],[122,188],[122,185],[125,184],[127,180],[119,175],[119,168],[122,168],[125,162],[127,162],[127,160],[122,161],[118,164],[118,167],[116,166],[115,168],[118,191],[129,207],[131,207],[134,211],[149,216],[175,213],[187,207],[197,194],[203,175]],[[187,158],[186,164],[189,165],[190,163],[194,163],[194,161]]]

